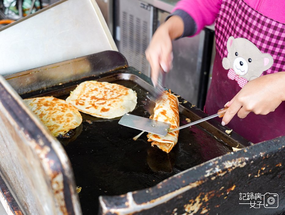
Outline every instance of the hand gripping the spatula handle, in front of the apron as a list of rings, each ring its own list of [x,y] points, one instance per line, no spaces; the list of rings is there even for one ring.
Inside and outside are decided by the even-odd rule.
[[[250,112],[266,115],[285,100],[285,72],[278,72],[258,77],[249,81],[226,104],[222,125],[228,124],[234,115],[245,118]]]

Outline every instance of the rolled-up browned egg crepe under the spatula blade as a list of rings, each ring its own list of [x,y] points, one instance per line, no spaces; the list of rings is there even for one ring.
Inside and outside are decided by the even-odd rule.
[[[156,101],[154,108],[154,120],[170,123],[170,129],[179,127],[178,98],[168,91],[164,91],[162,96]],[[167,153],[171,151],[178,140],[179,130],[167,133],[165,137],[148,133],[148,141],[152,146],[157,147]]]

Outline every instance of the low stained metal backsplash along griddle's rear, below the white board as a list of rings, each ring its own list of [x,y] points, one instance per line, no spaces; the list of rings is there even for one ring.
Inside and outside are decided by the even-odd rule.
[[[127,61],[122,54],[117,51],[103,51],[15,73],[5,78],[18,94],[23,94],[126,67]]]

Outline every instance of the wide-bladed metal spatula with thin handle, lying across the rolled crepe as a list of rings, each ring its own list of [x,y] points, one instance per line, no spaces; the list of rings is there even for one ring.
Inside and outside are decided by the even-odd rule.
[[[138,130],[142,130],[142,131],[147,131],[149,133],[158,134],[160,136],[166,136],[166,134],[168,132],[180,130],[182,128],[186,128],[186,127],[195,125],[197,123],[204,122],[208,119],[212,119],[212,118],[217,117],[217,116],[221,118],[225,115],[225,112],[227,109],[228,109],[228,107],[224,107],[224,108],[218,110],[218,112],[214,115],[211,115],[211,116],[208,116],[206,118],[197,120],[193,123],[186,124],[184,126],[180,126],[180,127],[175,128],[173,130],[169,129],[170,128],[169,123],[159,122],[156,120],[152,120],[152,119],[148,119],[145,117],[136,116],[136,115],[132,115],[132,114],[123,115],[119,121],[119,124],[123,125],[123,126],[131,127],[131,128],[135,128]]]

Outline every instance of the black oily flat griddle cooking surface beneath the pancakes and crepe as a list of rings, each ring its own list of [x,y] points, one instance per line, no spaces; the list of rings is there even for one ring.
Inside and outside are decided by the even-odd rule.
[[[149,99],[147,87],[144,86],[144,83],[147,83],[136,81],[140,79],[139,73],[120,75],[121,73],[128,74],[130,70],[133,68],[121,69],[113,74],[111,72],[98,77],[87,77],[21,96],[22,98],[54,96],[65,99],[70,91],[82,81],[108,81],[135,90],[137,106],[132,114],[149,117],[147,107],[154,104]],[[184,105],[181,97],[179,101],[180,105]],[[180,126],[188,123],[186,118],[189,118],[188,109],[191,104],[187,103],[187,105],[188,108],[180,108]],[[236,146],[237,143],[241,147],[245,146],[241,144],[241,141],[233,140],[231,144],[234,145],[227,144],[201,126],[195,125],[180,130],[177,144],[167,154],[156,146],[151,146],[151,143],[147,141],[147,133],[144,133],[137,141],[133,141],[132,138],[141,131],[119,125],[120,118],[100,119],[81,114],[83,121],[74,130],[75,134],[69,139],[59,138],[59,141],[70,158],[76,184],[82,187],[79,199],[83,214],[94,214],[94,211],[97,213],[100,195],[120,195],[152,187],[181,171],[232,152],[232,146]],[[239,138],[237,134],[234,135]],[[241,140],[244,139],[241,138]]]

